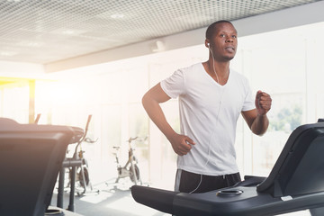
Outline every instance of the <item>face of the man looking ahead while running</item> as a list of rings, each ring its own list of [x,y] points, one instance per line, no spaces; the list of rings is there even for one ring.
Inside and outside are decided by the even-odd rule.
[[[215,60],[229,61],[238,48],[238,32],[230,23],[219,23],[211,38],[211,49]]]

